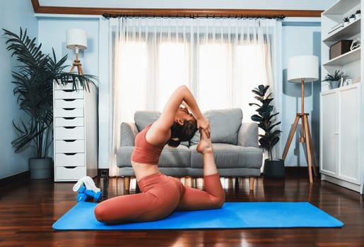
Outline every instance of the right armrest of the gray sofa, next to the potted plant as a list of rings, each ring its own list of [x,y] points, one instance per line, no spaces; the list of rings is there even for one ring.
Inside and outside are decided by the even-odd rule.
[[[243,147],[259,147],[258,123],[242,123],[237,133],[237,145]]]

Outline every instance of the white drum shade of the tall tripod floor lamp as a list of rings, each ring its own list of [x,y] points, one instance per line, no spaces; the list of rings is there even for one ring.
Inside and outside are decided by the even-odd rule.
[[[319,58],[317,56],[293,56],[288,59],[288,81],[305,83],[318,80]]]

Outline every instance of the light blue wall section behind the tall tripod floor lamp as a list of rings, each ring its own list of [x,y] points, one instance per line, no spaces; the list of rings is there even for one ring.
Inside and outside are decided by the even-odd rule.
[[[321,57],[321,25],[317,21],[300,21],[283,23],[282,30],[282,68],[283,68],[283,98],[282,98],[282,153],[286,145],[288,135],[295,121],[296,113],[301,112],[301,88],[300,83],[287,81],[287,66],[290,56],[315,55]],[[319,59],[320,61],[320,59]],[[320,73],[319,73],[320,74]],[[315,150],[316,164],[319,164],[319,92],[321,83],[305,83],[305,113],[309,115],[312,143]],[[300,143],[300,124],[296,135],[290,144],[285,160],[286,166],[307,166],[305,158],[305,146]]]

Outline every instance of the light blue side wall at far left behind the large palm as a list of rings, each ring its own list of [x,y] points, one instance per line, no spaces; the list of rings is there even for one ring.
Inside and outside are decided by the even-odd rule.
[[[30,1],[11,0],[0,2],[0,28],[19,33],[20,26],[28,29],[31,37],[37,37],[37,19]],[[16,137],[12,121],[18,119],[20,112],[16,97],[13,96],[11,70],[16,60],[6,50],[4,31],[0,31],[0,179],[27,171],[29,152],[14,153],[11,141]]]

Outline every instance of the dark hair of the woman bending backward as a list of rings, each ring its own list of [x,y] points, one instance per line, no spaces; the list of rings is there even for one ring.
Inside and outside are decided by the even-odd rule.
[[[182,141],[188,141],[194,137],[194,134],[197,131],[197,122],[196,120],[184,120],[183,125],[175,122],[170,130],[172,131],[172,136],[168,145],[171,147],[178,147]]]

